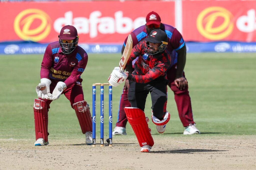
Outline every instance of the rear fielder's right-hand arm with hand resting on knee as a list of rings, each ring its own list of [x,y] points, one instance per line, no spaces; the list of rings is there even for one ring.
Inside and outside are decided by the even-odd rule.
[[[186,64],[186,44],[183,40],[182,35],[179,33],[177,29],[174,29],[173,36],[171,38],[171,45],[176,50],[178,57],[177,57],[177,70],[176,70],[176,77],[175,77],[175,85],[179,89],[184,89],[187,86],[187,80],[183,76],[184,67]]]

